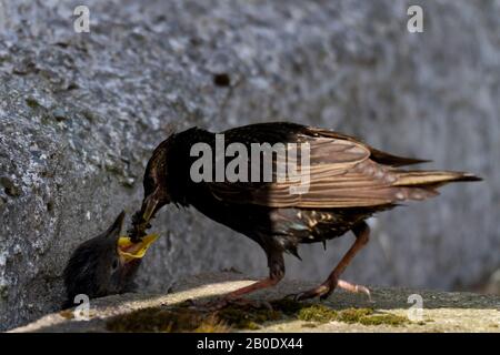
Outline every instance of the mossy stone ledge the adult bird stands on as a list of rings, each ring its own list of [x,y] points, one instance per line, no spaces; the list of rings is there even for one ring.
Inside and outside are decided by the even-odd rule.
[[[89,321],[72,310],[47,315],[14,332],[499,332],[500,297],[470,293],[371,287],[373,302],[362,295],[334,293],[324,302],[298,303],[287,294],[311,283],[283,281],[253,295],[272,310],[230,305],[220,311],[193,308],[251,281],[241,274],[187,277],[167,295],[123,294],[92,300]],[[408,296],[423,300],[421,320],[410,320]]]

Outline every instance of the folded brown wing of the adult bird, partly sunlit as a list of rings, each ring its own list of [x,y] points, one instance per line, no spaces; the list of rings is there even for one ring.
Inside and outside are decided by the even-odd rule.
[[[209,183],[213,195],[226,202],[272,207],[376,206],[402,200],[402,189],[392,186],[397,179],[396,172],[392,168],[371,160],[368,145],[336,132],[304,126],[283,134],[287,134],[287,141],[281,143],[284,143],[287,154],[296,148],[298,152],[298,166],[292,179],[289,175],[284,181],[282,176],[280,180],[280,174],[277,173],[279,159],[273,155],[271,182]],[[238,134],[229,134],[226,139],[228,138],[230,142],[236,141]],[[301,163],[302,154],[306,154],[301,146],[309,148],[309,164]],[[287,161],[287,168],[290,164],[293,168],[293,161]],[[260,168],[262,166],[261,163]],[[248,168],[250,171],[250,160]]]

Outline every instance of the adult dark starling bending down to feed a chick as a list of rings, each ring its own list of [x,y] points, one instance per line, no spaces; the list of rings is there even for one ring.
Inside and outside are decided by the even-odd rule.
[[[340,263],[321,285],[298,294],[297,298],[324,298],[336,287],[369,295],[364,286],[340,280],[369,240],[369,226],[364,221],[402,201],[434,196],[437,189],[446,183],[480,180],[463,172],[401,170],[399,166],[424,161],[396,156],[346,134],[294,123],[259,123],[221,133],[226,146],[242,143],[248,151],[252,143],[283,143],[287,150],[293,146],[290,143],[307,143],[309,190],[291,193],[290,187],[297,182],[279,181],[276,171],[270,182],[230,182],[228,179],[194,182],[190,169],[198,156],[191,156],[191,148],[200,142],[212,151],[218,146],[214,133],[192,128],[170,135],[154,150],[144,173],[142,207],[132,217],[129,233],[132,240],[140,239],[158,210],[174,203],[192,205],[257,242],[267,255],[269,277],[231,292],[226,300],[276,285],[284,275],[283,252],[298,256],[299,244],[324,243],[348,231],[353,232],[356,240]],[[220,156],[214,160],[218,159]],[[274,168],[277,161],[273,155]],[[252,163],[248,160],[249,171],[264,168],[263,160],[260,165]]]

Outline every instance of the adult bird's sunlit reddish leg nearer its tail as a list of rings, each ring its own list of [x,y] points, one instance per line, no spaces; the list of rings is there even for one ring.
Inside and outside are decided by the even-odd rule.
[[[306,291],[303,293],[300,293],[296,296],[296,300],[302,301],[313,297],[320,297],[321,300],[327,298],[336,287],[343,288],[349,292],[362,292],[370,297],[370,291],[361,285],[354,285],[350,284],[347,281],[340,280],[340,275],[343,273],[346,267],[349,265],[349,263],[352,261],[356,254],[364,246],[367,245],[369,239],[370,239],[370,227],[368,224],[363,221],[352,229],[352,232],[356,235],[356,241],[352,244],[352,246],[349,248],[349,251],[343,255],[340,263],[333,268],[333,271],[330,273],[328,278],[318,287]]]

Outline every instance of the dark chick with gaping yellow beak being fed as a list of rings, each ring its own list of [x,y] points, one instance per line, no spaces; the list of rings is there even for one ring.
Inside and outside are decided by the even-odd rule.
[[[120,236],[124,213],[102,234],[80,244],[64,268],[67,306],[74,296],[89,298],[130,291],[141,257],[157,235],[147,235],[139,243]]]

